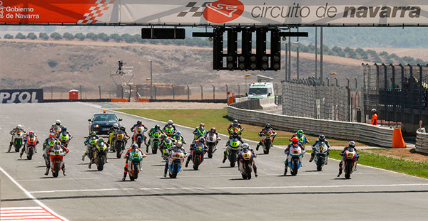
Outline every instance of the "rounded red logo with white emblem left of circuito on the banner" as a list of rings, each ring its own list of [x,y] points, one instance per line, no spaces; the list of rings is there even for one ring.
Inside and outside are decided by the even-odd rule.
[[[244,4],[238,0],[218,0],[206,4],[203,18],[210,23],[226,23],[239,18],[244,12]]]

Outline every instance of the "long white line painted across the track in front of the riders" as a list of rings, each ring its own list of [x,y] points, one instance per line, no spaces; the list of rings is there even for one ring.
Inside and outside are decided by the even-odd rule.
[[[225,187],[183,187],[183,188],[111,188],[111,189],[88,189],[88,190],[42,190],[30,193],[70,193],[70,192],[98,192],[117,190],[245,190],[245,189],[301,189],[301,188],[388,188],[403,186],[427,186],[428,183],[397,183],[397,184],[362,184],[362,185],[285,185],[285,186],[225,186]]]

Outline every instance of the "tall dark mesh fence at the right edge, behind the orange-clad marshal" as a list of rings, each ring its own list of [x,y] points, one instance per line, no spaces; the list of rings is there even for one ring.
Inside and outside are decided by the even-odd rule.
[[[381,124],[419,124],[428,119],[428,66],[367,64],[363,68],[367,119],[373,108]]]

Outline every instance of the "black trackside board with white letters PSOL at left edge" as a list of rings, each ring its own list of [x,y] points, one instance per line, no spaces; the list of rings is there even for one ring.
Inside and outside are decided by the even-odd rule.
[[[0,90],[0,104],[41,102],[43,102],[42,89]]]

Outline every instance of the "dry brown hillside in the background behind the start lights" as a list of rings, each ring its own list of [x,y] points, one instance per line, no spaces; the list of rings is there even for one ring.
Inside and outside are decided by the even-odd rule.
[[[150,74],[148,60],[153,60],[153,82],[177,85],[244,85],[245,72],[212,70],[212,49],[183,45],[151,45],[102,41],[0,40],[0,87],[25,88],[63,87],[63,92],[82,85],[85,88],[114,91],[109,74],[117,69],[117,61],[133,66],[133,82],[146,83]],[[293,53],[294,55],[294,53]],[[23,58],[25,60],[23,60]],[[315,75],[314,55],[300,53],[300,76]],[[325,56],[324,72],[337,72],[345,77],[362,76],[361,60]],[[292,64],[295,65],[293,57]],[[292,73],[295,74],[295,66]],[[250,72],[284,79],[278,72]],[[294,75],[292,75],[294,78]],[[255,80],[252,77],[250,81]],[[219,89],[222,90],[222,89]]]

